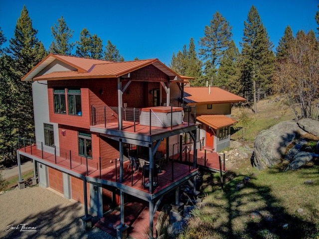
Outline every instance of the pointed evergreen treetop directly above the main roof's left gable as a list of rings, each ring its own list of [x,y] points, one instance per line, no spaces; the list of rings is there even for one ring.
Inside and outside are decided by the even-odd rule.
[[[72,55],[75,43],[69,43],[69,41],[72,39],[74,31],[67,26],[63,16],[58,19],[57,23],[51,26],[53,41],[49,47],[49,53]]]

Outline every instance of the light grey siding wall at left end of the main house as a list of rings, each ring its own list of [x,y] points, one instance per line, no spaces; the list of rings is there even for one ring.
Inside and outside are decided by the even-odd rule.
[[[50,122],[49,119],[49,103],[47,82],[33,82],[33,112],[34,112],[34,128],[37,148],[41,150],[41,142],[43,150],[49,153],[54,153],[54,147],[46,146],[44,144],[44,123],[53,124],[54,131],[54,145],[59,147],[59,130],[58,124]]]

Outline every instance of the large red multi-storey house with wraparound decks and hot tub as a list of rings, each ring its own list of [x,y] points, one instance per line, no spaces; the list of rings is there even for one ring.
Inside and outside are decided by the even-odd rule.
[[[128,230],[125,205],[143,200],[153,238],[163,197],[174,195],[170,213],[180,216],[179,187],[195,184],[198,173],[196,143],[188,164],[173,160],[175,154],[181,158],[180,135],[197,142],[197,125],[185,120],[189,113],[180,101],[184,80],[158,59],[49,54],[22,78],[32,84],[35,140],[19,138],[18,164],[20,155],[33,159],[40,187],[82,203],[85,227],[91,215],[119,208],[121,239]]]

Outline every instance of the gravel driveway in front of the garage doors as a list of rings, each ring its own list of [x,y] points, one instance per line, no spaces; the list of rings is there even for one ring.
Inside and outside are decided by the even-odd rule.
[[[95,227],[85,231],[80,219],[84,216],[83,205],[41,187],[1,194],[0,215],[0,238],[114,239]],[[24,229],[23,224],[27,224]]]

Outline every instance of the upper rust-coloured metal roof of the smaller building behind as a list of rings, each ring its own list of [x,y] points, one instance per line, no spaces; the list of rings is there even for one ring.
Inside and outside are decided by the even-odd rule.
[[[185,87],[184,101],[188,105],[194,104],[221,104],[246,102],[245,98],[232,94],[218,87]]]

